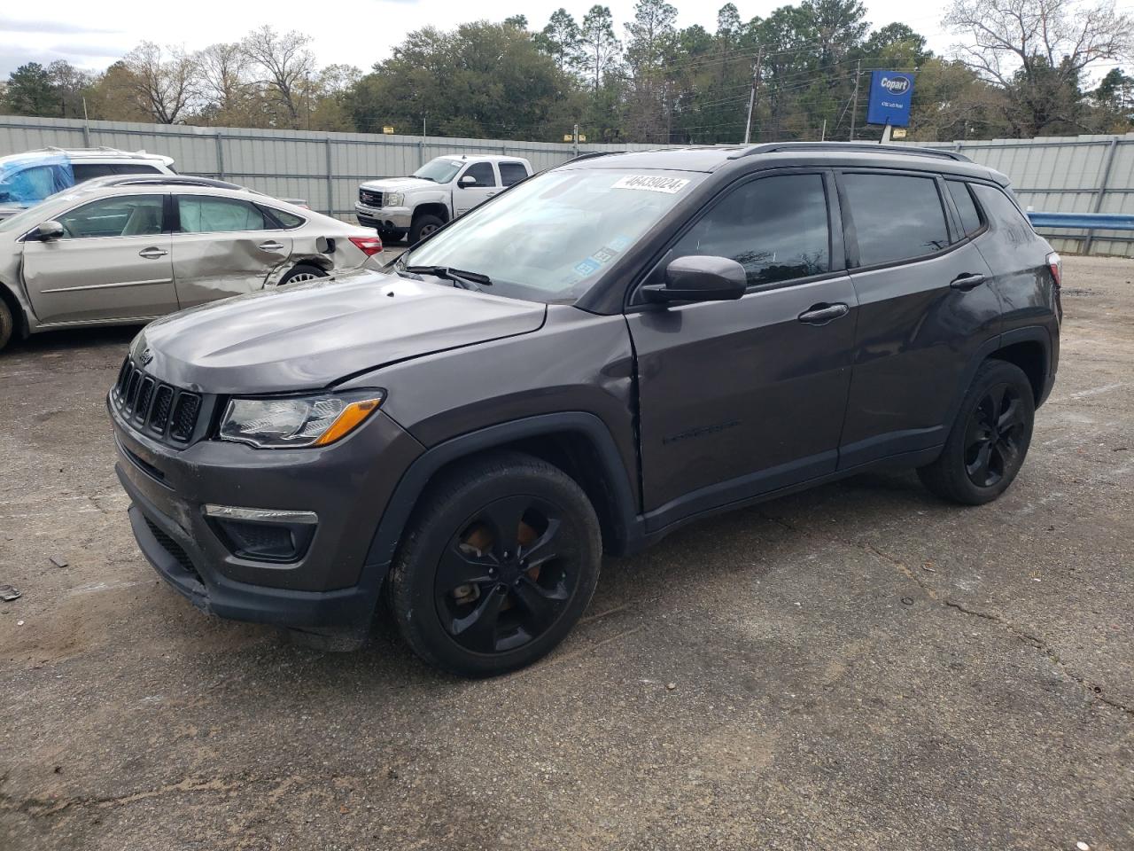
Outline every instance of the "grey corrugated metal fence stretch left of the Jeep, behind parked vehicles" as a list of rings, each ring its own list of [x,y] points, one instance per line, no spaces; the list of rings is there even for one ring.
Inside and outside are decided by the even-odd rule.
[[[510,154],[540,170],[576,152],[570,144],[545,142],[0,116],[0,157],[37,148],[100,145],[166,154],[181,174],[219,177],[277,197],[306,199],[312,209],[342,218],[354,216],[361,182],[408,175],[442,154]],[[578,152],[651,148],[657,145],[583,144]]]

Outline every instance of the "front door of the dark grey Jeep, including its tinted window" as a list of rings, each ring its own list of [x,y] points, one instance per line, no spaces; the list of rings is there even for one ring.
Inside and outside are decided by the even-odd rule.
[[[828,196],[830,178],[812,172],[733,188],[650,280],[677,256],[726,256],[747,294],[631,309],[651,530],[835,471],[856,302]]]

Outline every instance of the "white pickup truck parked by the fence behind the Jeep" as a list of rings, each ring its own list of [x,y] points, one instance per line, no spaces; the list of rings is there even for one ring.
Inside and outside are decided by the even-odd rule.
[[[355,214],[383,242],[408,235],[413,245],[531,174],[532,163],[521,157],[438,157],[412,177],[362,184]]]

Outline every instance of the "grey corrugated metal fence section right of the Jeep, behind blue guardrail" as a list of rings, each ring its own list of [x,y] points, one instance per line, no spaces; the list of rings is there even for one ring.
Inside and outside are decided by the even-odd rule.
[[[1007,175],[1029,210],[1134,213],[1134,133],[924,144],[958,151]],[[1058,251],[1134,256],[1129,231],[1038,229]]]

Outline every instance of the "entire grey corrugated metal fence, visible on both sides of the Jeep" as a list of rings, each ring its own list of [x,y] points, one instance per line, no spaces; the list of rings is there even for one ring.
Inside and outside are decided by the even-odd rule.
[[[1012,178],[1021,202],[1044,212],[1134,213],[1134,133],[988,142],[939,142]],[[107,145],[145,149],[177,160],[184,174],[220,177],[270,195],[306,199],[315,210],[348,218],[358,184],[408,175],[434,157],[500,153],[525,157],[539,170],[576,152],[570,144],[483,138],[379,136],[364,133],[184,127],[0,116],[0,155],[35,148]],[[578,152],[648,150],[657,145],[579,145]],[[1059,251],[1134,256],[1120,231],[1048,234]]]

